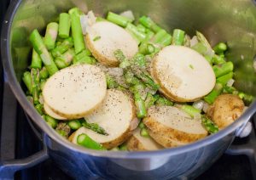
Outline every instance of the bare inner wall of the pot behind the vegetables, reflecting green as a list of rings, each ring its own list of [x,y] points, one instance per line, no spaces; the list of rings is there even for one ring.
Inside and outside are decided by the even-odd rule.
[[[256,95],[256,76],[253,58],[256,43],[256,7],[251,0],[27,0],[22,1],[14,15],[10,34],[11,60],[15,75],[21,82],[22,73],[31,61],[31,44],[28,40],[34,28],[44,31],[45,25],[57,20],[58,14],[78,6],[84,12],[93,10],[104,15],[109,10],[119,13],[131,9],[136,17],[143,14],[169,31],[181,28],[190,36],[201,31],[214,45],[227,42],[227,58],[236,69],[235,87]],[[256,64],[255,64],[256,65]]]

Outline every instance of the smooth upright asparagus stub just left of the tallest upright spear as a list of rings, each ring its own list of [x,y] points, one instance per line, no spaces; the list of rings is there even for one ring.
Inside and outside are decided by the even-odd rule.
[[[69,14],[61,13],[59,21],[60,21],[59,22],[59,37],[61,37],[61,38],[69,37],[69,31],[70,31],[70,17],[69,17]]]

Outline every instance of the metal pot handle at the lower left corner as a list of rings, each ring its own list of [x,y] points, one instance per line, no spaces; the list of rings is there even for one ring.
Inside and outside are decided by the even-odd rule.
[[[49,158],[47,148],[34,155],[18,160],[3,160],[0,162],[0,179],[14,179],[15,172],[37,165]]]

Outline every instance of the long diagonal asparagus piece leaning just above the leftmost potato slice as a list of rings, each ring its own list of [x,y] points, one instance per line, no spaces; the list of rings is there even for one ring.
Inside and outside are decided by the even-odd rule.
[[[40,36],[38,30],[32,31],[30,36],[30,41],[32,42],[33,48],[39,54],[40,58],[42,59],[44,66],[49,72],[49,75],[55,74],[58,71],[57,66],[55,65],[54,60],[52,59],[51,55],[49,54],[47,48],[44,45],[43,39]]]

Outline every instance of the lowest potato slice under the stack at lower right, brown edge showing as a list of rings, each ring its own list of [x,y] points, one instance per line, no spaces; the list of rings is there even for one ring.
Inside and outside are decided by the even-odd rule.
[[[178,146],[183,146],[188,143],[183,143],[172,138],[166,138],[165,136],[154,133],[148,129],[149,136],[154,139],[155,142],[160,143],[165,148],[174,148]]]

